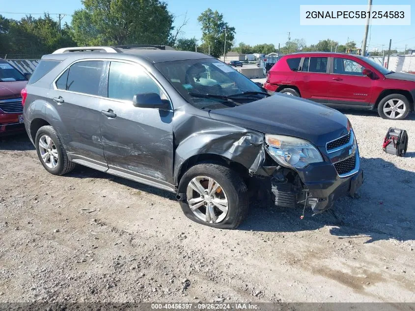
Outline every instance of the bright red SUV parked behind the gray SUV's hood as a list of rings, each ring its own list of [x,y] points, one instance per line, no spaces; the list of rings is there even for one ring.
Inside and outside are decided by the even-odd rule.
[[[404,119],[414,111],[415,75],[387,70],[357,55],[316,52],[281,57],[264,87],[333,108],[377,109],[385,119]]]

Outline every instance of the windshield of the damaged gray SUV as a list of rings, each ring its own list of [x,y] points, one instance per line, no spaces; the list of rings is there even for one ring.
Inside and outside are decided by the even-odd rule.
[[[235,107],[269,96],[263,88],[217,59],[177,60],[155,66],[199,109]]]

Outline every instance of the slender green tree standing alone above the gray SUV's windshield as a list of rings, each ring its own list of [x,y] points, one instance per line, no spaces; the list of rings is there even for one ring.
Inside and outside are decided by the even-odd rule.
[[[201,50],[205,53],[209,49],[213,57],[223,55],[223,48],[225,43],[225,28],[226,28],[226,51],[232,47],[232,41],[235,39],[235,28],[230,27],[228,23],[223,21],[223,15],[218,11],[213,11],[208,8],[200,14],[197,18],[202,30],[202,44]]]

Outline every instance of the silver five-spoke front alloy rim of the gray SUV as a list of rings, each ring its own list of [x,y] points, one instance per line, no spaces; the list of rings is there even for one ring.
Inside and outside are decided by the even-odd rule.
[[[194,215],[206,223],[220,223],[228,213],[229,202],[221,185],[207,176],[194,177],[187,186],[187,202]]]

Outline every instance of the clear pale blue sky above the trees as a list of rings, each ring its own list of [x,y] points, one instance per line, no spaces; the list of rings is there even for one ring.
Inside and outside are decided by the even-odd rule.
[[[207,8],[218,10],[225,22],[236,29],[235,44],[244,42],[278,43],[281,47],[287,41],[288,32],[292,39],[304,38],[307,45],[330,38],[345,44],[355,41],[360,47],[364,26],[300,26],[300,4],[367,4],[367,0],[165,0],[168,10],[176,16],[177,24],[183,22],[185,14],[189,18],[183,28],[183,37],[200,39],[200,25],[197,17]],[[391,4],[390,0],[373,0],[373,4]],[[414,0],[397,0],[393,4],[415,4]],[[62,23],[71,22],[71,14],[82,8],[81,0],[0,0],[0,14],[7,18],[20,19],[21,13],[31,13],[34,17],[49,12],[57,19],[57,13],[67,14]],[[415,5],[413,5],[415,7]],[[14,14],[19,13],[19,14]],[[368,50],[385,49],[392,39],[392,49],[403,51],[405,45],[415,48],[415,12],[411,10],[411,26],[371,26],[368,37]]]

